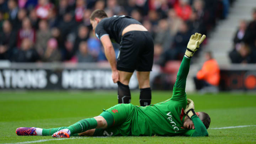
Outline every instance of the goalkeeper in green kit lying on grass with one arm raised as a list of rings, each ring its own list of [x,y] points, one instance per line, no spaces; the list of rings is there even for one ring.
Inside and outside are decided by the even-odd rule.
[[[194,112],[194,103],[187,99],[185,92],[190,59],[205,35],[195,33],[190,38],[187,50],[181,62],[169,100],[146,107],[132,104],[118,104],[104,110],[99,116],[86,118],[69,126],[59,128],[17,128],[17,135],[52,135],[69,138],[70,136],[151,136],[184,135],[208,136],[210,117],[204,112]]]

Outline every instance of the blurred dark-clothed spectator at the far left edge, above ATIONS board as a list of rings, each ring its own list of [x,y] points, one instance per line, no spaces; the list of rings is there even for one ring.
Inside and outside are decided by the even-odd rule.
[[[3,22],[3,31],[0,33],[0,59],[9,59],[12,49],[16,46],[16,33],[12,30],[9,20]]]

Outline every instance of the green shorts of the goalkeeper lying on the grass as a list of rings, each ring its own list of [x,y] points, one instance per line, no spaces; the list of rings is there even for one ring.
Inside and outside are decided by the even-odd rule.
[[[104,110],[104,109],[103,109]],[[121,103],[107,110],[114,117],[113,126],[107,129],[96,129],[94,136],[128,136],[132,135],[132,118],[136,108],[132,104]]]

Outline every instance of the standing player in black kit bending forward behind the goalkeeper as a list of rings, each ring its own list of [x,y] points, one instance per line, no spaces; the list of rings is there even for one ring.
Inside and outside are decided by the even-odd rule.
[[[118,85],[118,103],[130,103],[128,84],[134,70],[137,70],[140,106],[150,105],[149,74],[153,65],[154,43],[148,30],[132,17],[107,17],[103,10],[92,12],[90,22],[105,49],[113,82]],[[120,44],[117,62],[111,42]]]

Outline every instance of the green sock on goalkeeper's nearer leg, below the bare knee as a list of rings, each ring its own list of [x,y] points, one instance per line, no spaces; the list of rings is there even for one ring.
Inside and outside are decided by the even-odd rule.
[[[97,127],[97,121],[94,118],[82,119],[79,122],[67,127],[70,130],[70,134],[82,133],[89,129],[94,129]]]

